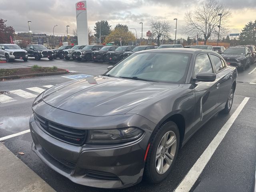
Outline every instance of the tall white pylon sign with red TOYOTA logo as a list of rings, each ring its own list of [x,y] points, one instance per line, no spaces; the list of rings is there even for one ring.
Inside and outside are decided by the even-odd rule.
[[[76,26],[79,45],[88,45],[88,24],[86,1],[76,3]]]

